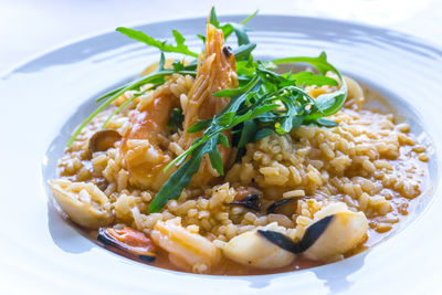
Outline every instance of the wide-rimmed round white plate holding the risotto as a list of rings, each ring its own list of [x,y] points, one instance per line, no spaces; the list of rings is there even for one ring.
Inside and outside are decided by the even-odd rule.
[[[222,18],[240,20],[241,17]],[[138,27],[155,36],[178,29],[192,46],[204,18]],[[385,94],[413,131],[430,143],[431,191],[391,239],[345,261],[262,276],[209,276],[139,264],[101,249],[52,209],[44,179],[74,125],[101,92],[159,56],[116,32],[54,50],[0,80],[0,286],[3,294],[429,294],[442,291],[442,51],[394,31],[330,20],[257,15],[256,55],[318,55]],[[75,116],[73,116],[75,114]],[[73,116],[73,117],[71,117]],[[67,118],[71,118],[67,120]],[[67,123],[66,123],[67,120]],[[422,130],[425,130],[423,133]],[[50,156],[46,157],[45,155]],[[43,169],[42,169],[43,168]]]

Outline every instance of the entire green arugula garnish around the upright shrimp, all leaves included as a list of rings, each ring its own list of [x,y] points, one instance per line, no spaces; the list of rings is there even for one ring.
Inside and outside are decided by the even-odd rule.
[[[256,11],[257,12],[257,11]],[[199,170],[201,160],[207,154],[212,167],[219,175],[223,175],[223,162],[218,149],[219,145],[224,147],[235,147],[241,155],[245,152],[245,145],[264,138],[273,133],[284,135],[293,128],[303,124],[314,124],[324,127],[334,127],[337,124],[326,117],[337,113],[344,105],[347,96],[347,86],[340,73],[327,62],[327,56],[323,52],[317,57],[286,57],[270,62],[255,61],[252,52],[256,44],[250,42],[245,23],[255,14],[246,18],[240,23],[221,23],[218,20],[214,9],[210,13],[210,23],[221,29],[225,39],[232,33],[238,40],[238,48],[233,50],[236,60],[236,73],[239,87],[235,89],[223,89],[214,94],[218,97],[230,97],[228,106],[211,119],[200,120],[190,128],[188,133],[202,131],[202,137],[198,138],[180,156],[175,158],[165,170],[171,166],[178,169],[171,175],[166,183],[158,191],[150,203],[149,212],[158,212],[171,199],[178,199],[182,190],[187,188],[194,173]],[[118,28],[118,32],[127,36],[155,46],[160,50],[161,59],[156,73],[138,77],[114,91],[110,91],[97,98],[97,102],[104,103],[75,130],[69,141],[69,146],[101,110],[118,98],[126,91],[136,91],[135,99],[144,92],[140,86],[151,84],[149,89],[162,85],[166,76],[173,73],[192,75],[197,74],[198,60],[190,61],[187,65],[180,60],[176,60],[172,69],[165,69],[165,52],[181,53],[188,56],[198,57],[198,54],[190,51],[185,44],[186,39],[176,30],[172,31],[176,45],[156,40],[143,32],[126,28]],[[201,40],[204,36],[198,35]],[[306,63],[313,65],[319,74],[312,72],[284,73],[274,72],[278,64]],[[328,72],[335,73],[338,81],[326,76]],[[316,99],[308,95],[305,86],[338,86],[339,89],[333,93],[326,93]],[[147,89],[148,91],[148,89]],[[127,101],[118,107],[112,115],[120,112],[130,101]],[[110,119],[106,120],[106,123]],[[168,127],[171,131],[182,128],[181,109],[172,110]],[[223,134],[227,130],[232,135],[231,144]]]

